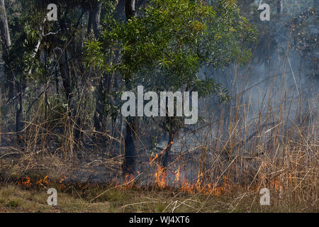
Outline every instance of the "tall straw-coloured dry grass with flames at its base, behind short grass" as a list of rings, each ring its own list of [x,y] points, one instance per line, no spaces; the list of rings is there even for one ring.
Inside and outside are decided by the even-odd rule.
[[[268,69],[266,88],[258,87],[258,82],[247,87],[253,72],[235,68],[230,104],[218,108],[213,104],[214,110],[211,98],[201,101],[202,123],[179,132],[171,165],[165,172],[159,172],[162,170],[157,169],[156,163],[148,162],[149,138],[154,130],[142,128],[146,135],[138,135],[138,177],[133,182],[147,189],[162,187],[194,196],[204,194],[207,198],[228,195],[228,205],[233,208],[230,210],[247,203],[247,198],[248,206],[258,201],[259,190],[267,187],[272,204],[318,210],[319,96],[304,95],[296,84],[291,88],[287,81],[293,76],[296,82],[296,78],[286,72],[287,64],[288,55],[278,65],[281,70],[276,74]],[[261,95],[250,92],[251,89],[260,89]],[[88,130],[92,127],[83,111],[79,111],[85,107],[85,101],[80,103],[75,112],[82,114],[72,116],[70,111],[51,109],[51,115],[44,118],[42,96],[25,122],[19,138],[21,144],[13,142],[1,147],[3,182],[26,175],[59,179],[61,175],[72,175],[74,170],[85,175],[95,165],[103,167],[95,168],[93,175],[99,176],[106,169],[113,173],[99,178],[99,182],[118,180],[123,161],[123,119],[116,126],[108,120],[110,131]],[[77,121],[79,118],[81,121]],[[74,135],[76,130],[81,131],[79,138]],[[11,141],[16,138],[14,133],[3,136]]]

